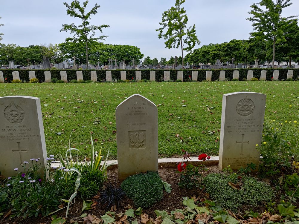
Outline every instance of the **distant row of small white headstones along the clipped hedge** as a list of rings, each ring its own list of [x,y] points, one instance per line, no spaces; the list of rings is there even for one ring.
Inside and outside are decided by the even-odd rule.
[[[18,71],[13,71],[13,79],[20,79],[19,72]],[[83,80],[83,73],[82,71],[77,71],[77,81]],[[293,78],[293,70],[288,70],[287,73],[287,79],[292,79]],[[266,70],[261,71],[260,75],[260,80],[266,80]],[[141,71],[136,71],[135,72],[135,79],[136,81],[141,80]],[[198,76],[198,71],[192,71],[192,81],[197,81],[197,76]],[[90,72],[90,77],[91,81],[97,82],[97,72],[96,71],[91,71]],[[278,80],[279,77],[279,70],[275,70],[273,72],[273,80]],[[35,72],[30,71],[29,72],[29,79],[36,78]],[[250,81],[253,78],[253,70],[249,70],[247,72],[247,80]],[[60,72],[60,79],[64,82],[68,82],[67,79],[67,74],[66,71],[61,71]],[[126,71],[121,71],[120,72],[120,79],[121,80],[126,80]],[[151,81],[156,80],[156,72],[155,71],[150,71],[149,72],[149,79]],[[164,71],[164,80],[167,81],[170,79],[170,71]],[[183,71],[178,71],[177,73],[177,79],[180,79],[183,81]],[[225,79],[225,70],[220,71],[219,75],[219,81],[223,81]],[[238,79],[239,80],[239,71],[235,70],[233,74],[233,79]],[[206,71],[206,80],[207,81],[212,81],[212,71]],[[106,71],[106,81],[112,81],[112,73],[111,71]],[[4,83],[4,77],[3,77],[3,72],[0,71],[0,83]],[[50,71],[45,71],[45,82],[51,82],[51,72]]]

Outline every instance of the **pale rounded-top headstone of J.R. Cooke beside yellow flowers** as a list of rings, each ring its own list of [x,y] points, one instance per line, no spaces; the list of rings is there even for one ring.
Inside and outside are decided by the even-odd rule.
[[[236,170],[251,162],[258,168],[266,95],[237,92],[222,98],[219,168]]]

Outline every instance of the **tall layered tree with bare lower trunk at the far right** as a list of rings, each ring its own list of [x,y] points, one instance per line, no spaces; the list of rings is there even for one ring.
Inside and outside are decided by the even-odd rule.
[[[252,26],[257,32],[264,33],[265,39],[273,42],[273,54],[272,54],[272,67],[274,67],[275,60],[275,44],[277,39],[285,39],[283,37],[284,29],[287,24],[294,21],[292,18],[295,16],[282,17],[281,13],[283,8],[290,6],[291,0],[262,0],[260,3],[252,4],[252,8],[248,13],[252,14],[252,17],[247,18],[247,20],[253,22]],[[266,7],[263,10],[260,7]],[[254,36],[254,33],[251,33]],[[269,64],[269,63],[268,63]]]

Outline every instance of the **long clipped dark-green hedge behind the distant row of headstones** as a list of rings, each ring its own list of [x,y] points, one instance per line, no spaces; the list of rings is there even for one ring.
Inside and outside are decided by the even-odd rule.
[[[247,68],[241,68],[241,69],[221,69],[225,70],[225,78],[231,80],[233,78],[234,70],[239,70],[239,80],[242,80],[244,78],[247,78],[247,71],[253,70],[253,77],[256,77],[260,79],[260,73],[262,70],[267,71],[266,80],[271,80],[271,77],[273,76],[274,70],[279,70],[279,79],[286,80],[286,76],[288,73],[288,70],[294,70],[293,79],[295,80],[298,78],[299,75],[299,69],[289,69],[289,68],[254,68],[254,69],[247,69]],[[36,78],[39,79],[39,82],[45,82],[45,71],[51,71],[51,77],[60,79],[60,71],[66,71],[68,81],[72,79],[77,79],[76,71],[82,71],[83,73],[83,79],[84,80],[90,80],[90,72],[96,71],[97,72],[97,81],[104,81],[106,79],[106,71],[107,70],[73,70],[73,69],[33,69],[33,70],[22,70],[22,69],[0,69],[0,71],[3,72],[4,79],[7,78],[7,82],[11,82],[13,80],[13,71],[19,71],[20,79],[29,82],[29,71],[35,71]],[[121,69],[118,70],[110,70],[112,73],[112,79],[120,79],[120,71],[123,71]],[[132,79],[135,78],[135,71],[136,70],[126,70],[126,78]],[[138,70],[141,71],[141,78],[142,79],[149,79],[149,72],[155,71],[156,72],[156,81],[162,81],[164,78],[164,71],[170,71],[170,79],[173,81],[177,79],[177,72],[178,70],[174,69],[144,69],[144,70]],[[183,70],[183,81],[187,81],[189,79],[189,76],[192,78],[192,71],[198,71],[198,81],[204,81],[206,79],[206,71],[208,69],[198,69],[198,70],[191,70],[191,69],[184,69]],[[212,69],[212,81],[215,81],[219,79],[220,69],[213,70]]]

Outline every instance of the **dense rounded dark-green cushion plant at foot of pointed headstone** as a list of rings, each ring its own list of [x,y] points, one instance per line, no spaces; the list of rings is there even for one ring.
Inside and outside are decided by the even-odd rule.
[[[148,208],[161,201],[163,183],[158,172],[135,174],[121,183],[121,188],[131,198],[136,207]]]

